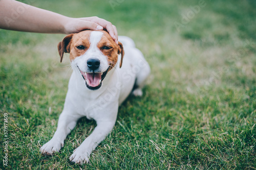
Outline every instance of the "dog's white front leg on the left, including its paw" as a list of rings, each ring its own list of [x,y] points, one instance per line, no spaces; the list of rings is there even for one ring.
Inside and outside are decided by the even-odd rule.
[[[72,114],[68,111],[63,110],[59,116],[58,127],[51,140],[44,144],[40,152],[44,155],[52,155],[55,152],[59,152],[63,147],[64,140],[67,135],[76,126],[77,120],[80,118],[78,114]]]

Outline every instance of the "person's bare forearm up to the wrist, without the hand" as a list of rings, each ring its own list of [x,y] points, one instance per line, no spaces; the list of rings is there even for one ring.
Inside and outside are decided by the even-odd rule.
[[[64,23],[70,19],[13,0],[0,0],[0,16],[2,29],[37,33],[66,33]]]

